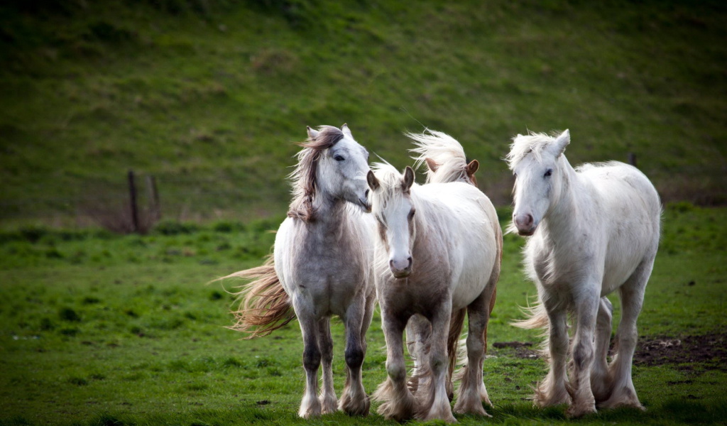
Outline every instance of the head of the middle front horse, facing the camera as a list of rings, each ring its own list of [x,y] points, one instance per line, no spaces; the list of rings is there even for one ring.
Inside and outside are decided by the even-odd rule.
[[[374,167],[379,177],[369,172],[366,180],[371,188],[371,213],[378,223],[379,242],[389,253],[389,269],[394,278],[406,278],[411,275],[411,247],[416,236],[416,209],[411,200],[414,170],[406,166],[404,173],[399,174],[389,164]]]

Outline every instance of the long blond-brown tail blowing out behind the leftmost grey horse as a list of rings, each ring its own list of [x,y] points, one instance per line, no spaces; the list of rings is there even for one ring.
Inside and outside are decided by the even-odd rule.
[[[254,280],[242,286],[240,292],[234,293],[239,308],[233,310],[236,322],[229,327],[248,333],[246,339],[267,336],[295,318],[290,297],[275,271],[272,255],[268,256],[262,266],[231,273],[220,279],[227,278]]]

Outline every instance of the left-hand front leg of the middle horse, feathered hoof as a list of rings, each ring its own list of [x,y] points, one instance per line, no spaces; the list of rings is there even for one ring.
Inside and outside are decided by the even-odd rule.
[[[388,377],[371,395],[374,401],[382,402],[378,413],[386,419],[398,422],[414,417],[416,401],[406,386],[406,363],[402,333],[408,318],[398,318],[381,306],[382,328],[386,340],[386,372]]]

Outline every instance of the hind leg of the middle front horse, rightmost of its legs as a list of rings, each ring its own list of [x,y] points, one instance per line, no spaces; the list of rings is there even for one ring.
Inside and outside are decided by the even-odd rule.
[[[479,414],[488,416],[482,403],[491,406],[487,390],[482,379],[482,363],[485,358],[487,322],[490,317],[490,300],[494,285],[487,286],[482,294],[467,306],[467,365],[462,369],[462,383],[457,391],[457,413]]]

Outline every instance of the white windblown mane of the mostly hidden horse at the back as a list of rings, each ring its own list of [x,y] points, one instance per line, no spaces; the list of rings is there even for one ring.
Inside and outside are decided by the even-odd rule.
[[[409,150],[411,153],[418,154],[411,157],[414,159],[414,169],[422,166],[427,158],[438,165],[436,172],[427,167],[427,183],[469,181],[465,150],[454,137],[430,129],[425,129],[420,134],[407,132],[405,135],[417,146],[417,148]]]

